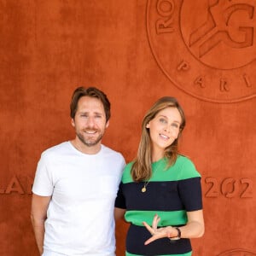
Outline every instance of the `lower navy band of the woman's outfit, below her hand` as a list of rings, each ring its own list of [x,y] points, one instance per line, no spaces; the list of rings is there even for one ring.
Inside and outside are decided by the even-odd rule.
[[[189,239],[170,241],[169,238],[162,238],[145,246],[144,242],[150,237],[151,235],[145,227],[131,224],[126,236],[126,251],[133,254],[155,256],[183,254],[192,250]]]

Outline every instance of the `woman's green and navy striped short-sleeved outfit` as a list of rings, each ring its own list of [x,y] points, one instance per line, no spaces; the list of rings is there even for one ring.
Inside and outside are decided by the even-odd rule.
[[[152,164],[152,177],[142,192],[144,182],[131,178],[132,162],[125,166],[119,185],[115,207],[126,209],[125,220],[131,223],[126,236],[126,256],[189,256],[192,253],[189,239],[170,241],[168,238],[144,241],[151,236],[143,221],[152,223],[154,215],[160,216],[159,227],[183,226],[187,213],[202,209],[201,175],[187,157],[179,155],[176,163],[166,168],[166,159]]]

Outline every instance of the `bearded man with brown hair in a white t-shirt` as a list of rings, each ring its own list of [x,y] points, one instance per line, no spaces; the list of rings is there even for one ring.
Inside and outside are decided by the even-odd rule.
[[[70,110],[76,136],[44,151],[32,187],[39,253],[113,256],[113,205],[125,160],[102,145],[110,102],[101,90],[79,87]]]

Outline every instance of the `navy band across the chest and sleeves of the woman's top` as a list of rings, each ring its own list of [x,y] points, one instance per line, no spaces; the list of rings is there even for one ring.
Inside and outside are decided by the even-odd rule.
[[[202,208],[201,177],[180,181],[121,183],[115,206],[127,211],[196,211]]]

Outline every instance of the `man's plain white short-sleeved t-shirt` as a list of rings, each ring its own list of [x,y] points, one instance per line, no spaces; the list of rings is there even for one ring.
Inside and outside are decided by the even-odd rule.
[[[44,249],[65,255],[113,256],[113,207],[125,160],[102,145],[83,154],[61,143],[41,155],[32,187],[52,195],[45,221]]]

